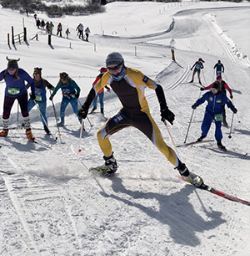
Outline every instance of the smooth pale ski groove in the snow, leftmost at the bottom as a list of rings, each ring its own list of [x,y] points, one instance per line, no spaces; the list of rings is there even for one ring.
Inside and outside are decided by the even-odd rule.
[[[27,219],[24,216],[21,204],[18,200],[18,197],[13,192],[14,189],[13,189],[13,186],[10,182],[10,179],[8,177],[4,177],[4,182],[5,182],[5,185],[7,187],[7,191],[9,193],[9,196],[10,196],[12,202],[13,202],[13,206],[15,207],[15,209],[18,213],[18,217],[19,217],[21,223],[23,224],[23,228],[26,231],[26,233],[28,234],[28,238],[30,239],[30,243],[32,244],[32,248],[35,249],[37,255],[40,255],[39,250],[37,249],[37,246],[34,243],[34,240],[32,238],[32,233],[31,233],[30,229],[28,228],[28,222],[27,222]],[[32,248],[30,248],[30,249],[32,249]]]

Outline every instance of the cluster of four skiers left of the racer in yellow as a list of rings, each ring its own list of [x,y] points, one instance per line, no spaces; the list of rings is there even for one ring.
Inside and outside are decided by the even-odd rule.
[[[50,90],[49,100],[53,99],[59,89],[62,90],[62,102],[60,107],[61,121],[57,124],[58,126],[63,126],[65,123],[65,110],[68,104],[72,105],[72,110],[77,115],[80,124],[82,124],[82,118],[78,115],[78,98],[81,89],[66,72],[59,74],[59,81],[57,86],[54,87],[47,79],[42,78],[42,68],[35,67],[33,69],[32,78],[25,70],[18,67],[18,61],[19,59],[7,58],[7,69],[2,70],[0,73],[0,80],[5,79],[6,82],[2,115],[3,130],[0,132],[0,137],[5,137],[8,134],[9,116],[15,100],[18,100],[18,104],[21,107],[23,115],[22,126],[27,131],[28,140],[35,140],[35,137],[32,135],[28,115],[29,111],[32,110],[35,105],[37,105],[40,112],[44,131],[46,131],[47,135],[50,135],[51,132],[48,129],[46,116],[47,90]],[[106,72],[105,70],[107,71],[105,68],[99,70],[100,74],[97,75],[93,85],[97,83],[98,79],[101,79],[102,74]],[[27,82],[27,84],[25,84],[25,82]],[[28,100],[29,88],[31,88],[32,93]],[[110,90],[110,88],[106,88],[108,91]],[[103,94],[104,92],[102,90],[98,93],[97,97],[99,97],[100,100],[101,113],[104,115]],[[97,97],[96,100],[93,101],[92,111],[97,109]]]

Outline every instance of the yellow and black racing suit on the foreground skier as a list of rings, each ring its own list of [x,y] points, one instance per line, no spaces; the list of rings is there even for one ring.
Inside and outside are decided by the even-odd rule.
[[[92,103],[97,92],[102,90],[107,84],[109,84],[112,90],[117,94],[117,97],[122,103],[122,109],[117,115],[107,120],[107,122],[102,125],[102,128],[97,131],[97,139],[104,156],[110,156],[112,154],[112,146],[108,139],[109,136],[117,131],[121,131],[125,127],[133,126],[148,136],[148,139],[168,158],[168,161],[174,166],[178,166],[180,163],[178,156],[175,151],[163,141],[163,136],[158,125],[150,115],[148,102],[144,94],[146,87],[156,91],[158,88],[161,88],[159,93],[162,95],[157,93],[158,100],[159,98],[163,98],[166,102],[162,87],[137,69],[126,68],[126,73],[120,81],[112,79],[112,75],[107,72],[103,74],[102,79],[100,79],[89,92],[86,100],[87,105]]]

